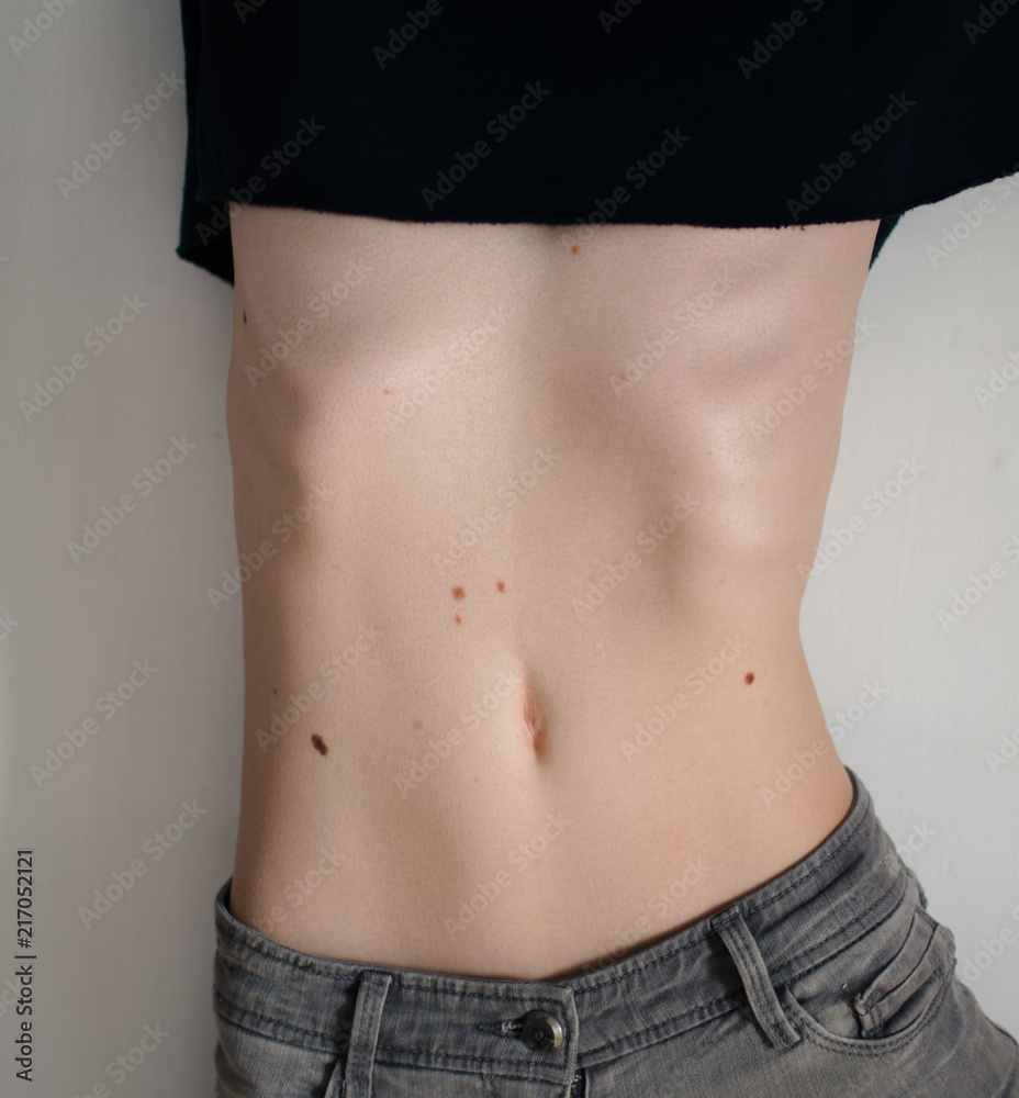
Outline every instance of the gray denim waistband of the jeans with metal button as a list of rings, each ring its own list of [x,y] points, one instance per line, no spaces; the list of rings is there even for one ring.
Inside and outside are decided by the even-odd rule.
[[[240,1026],[359,1061],[505,1072],[569,1085],[607,1062],[749,1002],[776,1046],[798,1040],[774,988],[882,922],[911,889],[860,778],[839,827],[780,876],[605,967],[557,981],[492,979],[301,953],[215,899],[215,1008]],[[911,898],[911,897],[910,897]]]

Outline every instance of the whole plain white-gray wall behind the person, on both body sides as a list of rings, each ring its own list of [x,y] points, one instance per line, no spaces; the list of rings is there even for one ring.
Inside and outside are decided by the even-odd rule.
[[[77,0],[15,57],[8,35],[43,10],[12,0],[0,26],[0,988],[14,968],[14,852],[31,848],[40,1091],[211,1095],[212,900],[233,864],[243,716],[239,598],[213,610],[205,595],[236,563],[232,291],[173,254],[182,89],[78,190],[57,184],[160,72],[182,76],[176,0]],[[994,211],[934,266],[926,245],[981,194]],[[893,838],[920,847],[910,864],[960,965],[1019,932],[1019,760],[985,761],[1003,736],[1019,740],[1019,562],[1001,549],[1019,547],[1019,382],[986,408],[973,393],[1019,352],[1010,194],[911,212],[869,278],[860,315],[874,330],[855,354],[826,526],[860,515],[865,529],[810,581],[803,619],[830,715],[867,683],[888,691],[839,746]],[[144,306],[96,355],[85,337],[122,295]],[[26,419],[20,402],[76,352],[89,365]],[[146,493],[144,470],[175,438],[195,448]],[[874,517],[864,497],[903,459],[922,473]],[[76,562],[68,542],[124,494],[135,508]],[[994,561],[1004,579],[943,630],[938,612]],[[158,671],[97,714],[135,661]],[[89,716],[96,732],[37,785],[31,768],[61,743],[68,754],[65,729]],[[199,818],[157,856],[183,804]],[[136,860],[144,874],[86,927],[79,906]],[[1019,944],[973,986],[1019,1033]],[[4,1079],[15,1020],[7,1007]],[[145,1027],[169,1035],[115,1085],[107,1065]]]

